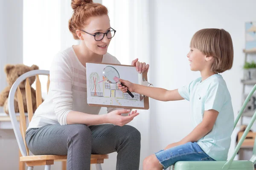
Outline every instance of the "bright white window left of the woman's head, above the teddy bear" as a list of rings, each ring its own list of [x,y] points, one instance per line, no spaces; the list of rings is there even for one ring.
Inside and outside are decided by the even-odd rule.
[[[72,11],[70,0],[23,0],[23,64],[49,70],[59,51],[78,44],[68,29]],[[47,76],[39,79],[45,98]]]

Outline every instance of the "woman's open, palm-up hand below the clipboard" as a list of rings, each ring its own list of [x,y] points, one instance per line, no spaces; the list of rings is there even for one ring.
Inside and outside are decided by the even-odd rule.
[[[122,109],[122,110],[115,110],[112,111],[108,114],[107,116],[107,123],[111,123],[113,125],[118,125],[118,126],[123,126],[126,125],[127,123],[131,122],[135,116],[138,116],[140,113],[137,113],[136,111],[131,111],[130,110]],[[128,116],[121,116],[122,113],[129,113]]]

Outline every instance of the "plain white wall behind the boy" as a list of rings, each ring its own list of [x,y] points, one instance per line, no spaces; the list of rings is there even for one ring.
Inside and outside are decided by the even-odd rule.
[[[224,28],[233,39],[234,62],[233,68],[221,75],[230,90],[236,116],[241,107],[244,23],[256,20],[256,1],[151,0],[150,4],[150,75],[154,86],[175,89],[199,77],[199,72],[190,71],[186,57],[192,35],[202,28]],[[150,150],[153,153],[182,139],[192,129],[189,102],[150,102]],[[233,147],[234,141],[231,153]]]

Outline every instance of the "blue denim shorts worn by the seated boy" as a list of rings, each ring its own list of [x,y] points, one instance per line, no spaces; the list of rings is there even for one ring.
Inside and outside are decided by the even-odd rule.
[[[160,150],[155,155],[165,170],[177,161],[215,161],[196,142]]]

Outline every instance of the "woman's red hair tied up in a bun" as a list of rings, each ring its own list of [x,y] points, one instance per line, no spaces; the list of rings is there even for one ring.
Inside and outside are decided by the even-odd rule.
[[[75,40],[79,40],[76,30],[82,29],[88,18],[108,14],[108,9],[105,6],[93,3],[93,0],[72,0],[71,7],[74,11],[68,22],[68,27]]]

